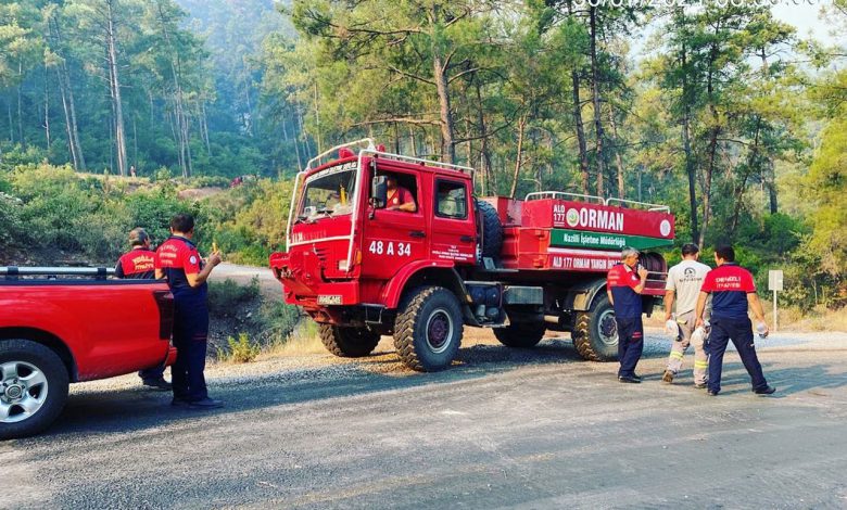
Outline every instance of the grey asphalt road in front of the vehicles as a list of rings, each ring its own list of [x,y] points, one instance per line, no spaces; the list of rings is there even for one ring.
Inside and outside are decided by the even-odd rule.
[[[659,381],[658,334],[641,385],[565,340],[480,334],[434,374],[388,341],[212,367],[212,412],[131,375],[76,385],[48,433],[0,444],[0,508],[847,508],[847,335],[763,342],[773,397],[730,354],[710,398]]]

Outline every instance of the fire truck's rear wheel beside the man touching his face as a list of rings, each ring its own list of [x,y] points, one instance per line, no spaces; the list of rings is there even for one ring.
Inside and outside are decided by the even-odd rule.
[[[573,346],[590,361],[615,361],[618,359],[618,324],[615,310],[607,296],[596,299],[590,311],[577,315],[571,332]]]

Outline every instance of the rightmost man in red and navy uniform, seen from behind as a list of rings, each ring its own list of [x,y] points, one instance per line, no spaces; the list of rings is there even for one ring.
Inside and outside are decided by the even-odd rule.
[[[706,298],[711,294],[708,394],[716,396],[721,391],[723,353],[732,340],[744,368],[750,374],[753,393],[770,395],[776,390],[769,386],[764,380],[761,364],[756,356],[756,345],[753,342],[753,324],[747,316],[747,308],[751,308],[759,322],[759,334],[762,337],[767,336],[768,324],[764,322],[764,311],[759,296],[756,295],[753,275],[735,264],[735,251],[732,246],[719,246],[715,251],[715,263],[718,267],[706,275],[695,311],[697,326],[703,326]]]

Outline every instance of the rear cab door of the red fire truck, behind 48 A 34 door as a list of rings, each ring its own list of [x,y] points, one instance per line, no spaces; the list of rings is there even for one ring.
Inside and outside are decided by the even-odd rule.
[[[432,258],[473,264],[477,238],[468,182],[435,177],[432,196]]]

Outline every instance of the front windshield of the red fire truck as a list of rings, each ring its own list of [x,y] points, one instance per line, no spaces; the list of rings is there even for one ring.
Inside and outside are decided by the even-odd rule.
[[[306,178],[299,220],[351,214],[354,207],[353,187],[356,183],[355,162],[333,166]]]

